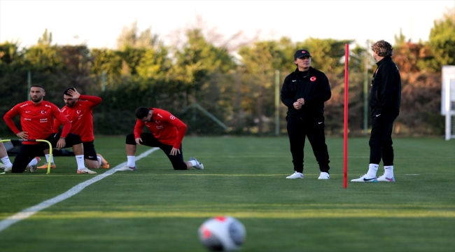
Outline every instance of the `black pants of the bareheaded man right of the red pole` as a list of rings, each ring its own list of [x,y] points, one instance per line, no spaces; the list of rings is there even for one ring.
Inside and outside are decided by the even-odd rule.
[[[372,127],[370,136],[370,164],[384,166],[393,165],[392,129],[393,121],[398,115],[372,114]]]

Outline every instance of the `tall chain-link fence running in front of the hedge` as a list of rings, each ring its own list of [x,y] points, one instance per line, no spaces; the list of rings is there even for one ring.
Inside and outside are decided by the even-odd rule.
[[[325,102],[325,132],[328,135],[342,136],[344,113],[344,74],[326,73],[332,88],[332,97]],[[60,108],[64,106],[63,91],[76,87],[81,94],[97,95],[103,102],[93,111],[95,134],[123,135],[132,132],[136,118],[134,111],[139,106],[157,107],[170,111],[188,125],[187,134],[193,135],[286,135],[287,108],[276,101],[283,79],[288,72],[265,74],[214,73],[199,83],[188,85],[176,80],[153,80],[137,76],[83,76],[50,72],[14,72],[0,77],[0,113],[4,115],[15,104],[24,102],[29,93],[29,85],[43,85],[45,100]],[[434,77],[437,80],[437,77]],[[172,79],[172,78],[170,78]],[[403,86],[407,78],[403,79]],[[369,82],[368,82],[369,83]],[[369,120],[368,110],[365,117],[364,73],[349,73],[349,134],[363,135],[365,119]],[[197,89],[195,88],[197,87]],[[410,88],[410,87],[409,87]],[[430,104],[437,103],[437,86],[428,90],[421,85],[412,85],[412,90],[419,88],[419,95],[428,95]],[[427,88],[427,89],[426,89]],[[404,88],[406,89],[406,88]],[[415,93],[415,92],[414,92]],[[412,99],[416,99],[413,97]],[[395,123],[395,134],[405,132],[414,134],[411,126],[419,124],[423,134],[439,134],[443,118],[433,106],[422,112],[426,104],[420,104],[419,111],[414,111],[412,101],[408,101],[406,92],[402,95],[402,111]],[[405,105],[405,107],[403,106]],[[433,113],[432,110],[435,110]],[[406,116],[414,115],[414,116]],[[423,115],[423,116],[422,116]],[[418,118],[421,118],[417,120]],[[431,121],[428,122],[428,118]],[[409,122],[408,122],[409,121]],[[441,121],[441,122],[440,122]],[[15,118],[20,126],[19,118]],[[368,124],[369,125],[369,124]],[[423,126],[422,126],[423,125]],[[435,126],[436,125],[436,126]],[[419,128],[415,128],[419,129]],[[417,133],[419,133],[417,132]],[[11,134],[5,123],[0,124],[1,134]]]

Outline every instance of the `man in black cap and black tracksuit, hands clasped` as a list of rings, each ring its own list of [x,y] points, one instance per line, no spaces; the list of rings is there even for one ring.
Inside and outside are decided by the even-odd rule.
[[[295,171],[286,179],[303,179],[305,137],[321,170],[318,179],[329,179],[330,161],[324,135],[324,102],[332,96],[328,78],[310,66],[311,55],[307,50],[297,50],[294,63],[297,69],[286,76],[281,87],[281,102],[288,106],[286,120]]]

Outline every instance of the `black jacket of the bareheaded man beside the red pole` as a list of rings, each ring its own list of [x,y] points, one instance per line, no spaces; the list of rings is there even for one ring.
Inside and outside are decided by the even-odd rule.
[[[377,114],[395,115],[400,113],[401,78],[398,67],[390,56],[377,64],[371,80],[370,107],[372,116]]]

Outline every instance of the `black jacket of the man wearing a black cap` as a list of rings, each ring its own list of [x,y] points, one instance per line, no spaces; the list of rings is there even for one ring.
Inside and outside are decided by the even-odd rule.
[[[288,107],[288,117],[304,120],[323,116],[324,102],[332,96],[327,76],[311,66],[302,78],[299,77],[302,72],[298,72],[297,68],[286,76],[281,87],[281,102]],[[295,109],[293,104],[299,98],[303,98],[305,103],[302,109]]]

